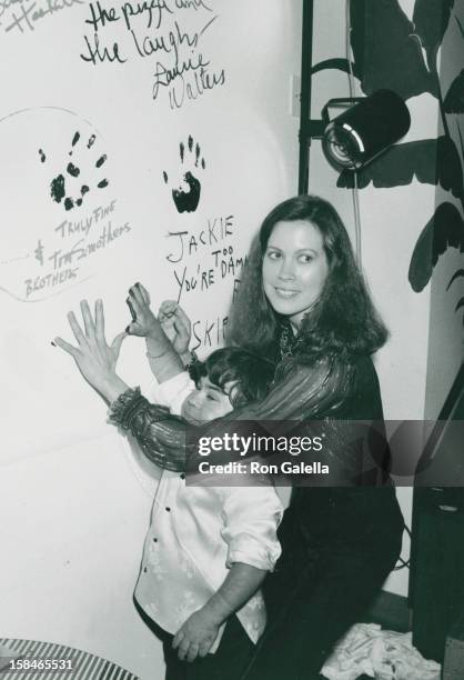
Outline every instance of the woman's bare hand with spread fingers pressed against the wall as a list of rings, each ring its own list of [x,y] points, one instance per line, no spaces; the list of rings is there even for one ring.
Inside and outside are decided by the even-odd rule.
[[[65,340],[62,340],[62,338],[56,338],[54,342],[68,354],[71,354],[87,382],[111,402],[128,389],[128,386],[115,372],[119,352],[127,333],[119,333],[111,346],[107,344],[104,338],[103,303],[101,300],[95,302],[94,319],[87,300],[81,301],[81,312],[84,332],[79,326],[74,313],[68,313],[68,321],[78,341],[78,347],[73,347],[65,342]]]

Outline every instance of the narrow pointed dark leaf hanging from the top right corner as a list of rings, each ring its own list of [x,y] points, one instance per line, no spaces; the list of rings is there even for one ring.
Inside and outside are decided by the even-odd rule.
[[[427,54],[428,68],[436,72],[436,53],[450,22],[454,0],[416,0],[413,12],[414,32]]]

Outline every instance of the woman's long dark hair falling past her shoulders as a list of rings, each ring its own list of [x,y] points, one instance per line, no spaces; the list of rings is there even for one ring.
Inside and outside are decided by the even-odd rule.
[[[321,297],[301,323],[297,354],[310,361],[330,356],[350,361],[355,356],[372,354],[385,342],[387,331],[372,303],[339,213],[315,196],[297,196],[279,203],[264,219],[230,311],[228,343],[279,359],[285,317],[273,310],[264,294],[262,262],[275,224],[294,220],[307,220],[317,227],[329,263]]]

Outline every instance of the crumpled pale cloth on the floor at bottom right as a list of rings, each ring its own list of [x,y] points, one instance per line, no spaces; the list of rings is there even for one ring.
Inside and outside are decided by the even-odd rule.
[[[427,661],[412,646],[412,633],[356,623],[336,644],[321,673],[327,680],[440,680],[440,663]]]

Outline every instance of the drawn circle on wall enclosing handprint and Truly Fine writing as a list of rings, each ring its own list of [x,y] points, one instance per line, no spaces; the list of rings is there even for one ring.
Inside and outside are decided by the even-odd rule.
[[[108,247],[131,228],[110,193],[104,139],[78,113],[10,113],[0,120],[0,293],[39,302],[101,270]]]

